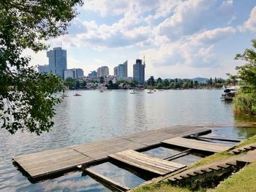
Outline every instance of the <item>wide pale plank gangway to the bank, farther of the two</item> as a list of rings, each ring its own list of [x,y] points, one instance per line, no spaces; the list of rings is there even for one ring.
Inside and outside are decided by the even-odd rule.
[[[179,147],[187,147],[195,150],[203,150],[203,151],[208,151],[213,153],[228,150],[231,147],[233,147],[230,145],[224,145],[224,144],[218,144],[218,143],[212,143],[212,142],[203,142],[203,141],[197,141],[195,139],[186,139],[182,137],[167,139],[163,141],[163,143],[169,144],[169,145],[176,145]]]

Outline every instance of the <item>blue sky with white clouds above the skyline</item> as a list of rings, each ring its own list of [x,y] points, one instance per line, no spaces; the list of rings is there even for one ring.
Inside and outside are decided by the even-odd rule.
[[[85,74],[99,66],[132,65],[145,55],[146,79],[222,77],[236,73],[236,53],[252,47],[255,0],[86,0],[68,33],[50,39],[67,50],[67,67]],[[32,65],[48,64],[46,51]]]

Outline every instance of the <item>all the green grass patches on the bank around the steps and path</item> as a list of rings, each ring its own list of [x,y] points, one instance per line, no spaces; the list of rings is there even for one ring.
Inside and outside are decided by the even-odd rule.
[[[249,145],[256,142],[256,136],[250,137],[249,139],[246,139],[244,142],[239,143],[236,145],[236,147],[243,147],[245,145]],[[195,168],[197,166],[203,166],[205,164],[210,164],[216,161],[223,160],[225,158],[229,158],[233,156],[231,153],[227,153],[226,151],[221,153],[215,153],[214,155],[210,155],[206,158],[202,158],[200,161],[195,162],[195,164],[192,164],[188,166],[188,169]],[[249,166],[246,166],[244,169],[242,169],[237,174],[234,174],[232,177],[229,177],[227,180],[225,180],[224,183],[219,185],[217,188],[214,189],[208,189],[207,191],[256,191],[256,163],[251,164]],[[178,186],[173,186],[167,183],[167,181],[163,181],[161,183],[154,183],[151,185],[143,185],[140,188],[136,188],[135,192],[145,192],[145,191],[159,191],[159,192],[167,192],[167,191],[173,191],[173,192],[187,192],[191,191],[189,188],[191,186],[187,186],[187,188],[181,188]],[[205,189],[203,191],[206,191]]]

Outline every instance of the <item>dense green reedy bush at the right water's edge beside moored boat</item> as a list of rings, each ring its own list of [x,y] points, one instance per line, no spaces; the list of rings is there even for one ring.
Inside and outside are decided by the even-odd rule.
[[[256,99],[250,93],[238,91],[234,100],[234,111],[248,115],[256,115]]]

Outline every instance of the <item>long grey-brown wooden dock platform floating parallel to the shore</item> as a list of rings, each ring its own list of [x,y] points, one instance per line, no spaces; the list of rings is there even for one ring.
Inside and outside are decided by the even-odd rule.
[[[173,126],[56,150],[20,155],[12,159],[30,180],[36,181],[54,174],[69,172],[79,165],[89,166],[105,161],[111,153],[124,150],[146,150],[161,145],[161,142],[166,139],[210,132],[210,128],[202,126]]]

